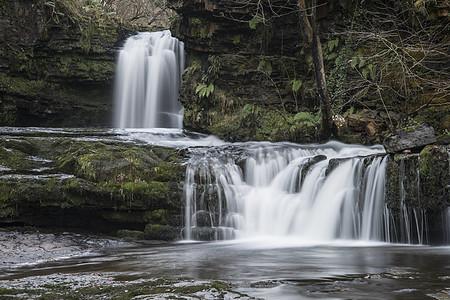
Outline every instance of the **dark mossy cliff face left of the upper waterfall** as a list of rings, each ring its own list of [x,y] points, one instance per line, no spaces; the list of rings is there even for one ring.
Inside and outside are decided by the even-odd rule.
[[[109,125],[121,39],[95,6],[0,1],[0,125]]]

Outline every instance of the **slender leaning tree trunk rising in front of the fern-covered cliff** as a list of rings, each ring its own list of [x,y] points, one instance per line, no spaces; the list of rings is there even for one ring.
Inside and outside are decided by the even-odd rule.
[[[317,34],[316,24],[316,1],[312,1],[311,22],[308,19],[305,0],[298,0],[300,11],[300,24],[302,25],[302,35],[305,46],[311,49],[315,80],[319,91],[320,108],[322,111],[322,123],[320,136],[328,139],[331,135],[336,135],[335,126],[331,116],[330,96],[328,95],[327,81],[325,79],[325,67],[323,65],[322,44]]]

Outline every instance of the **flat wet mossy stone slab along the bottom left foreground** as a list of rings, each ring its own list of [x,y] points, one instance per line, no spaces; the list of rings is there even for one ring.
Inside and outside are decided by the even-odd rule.
[[[114,273],[56,273],[0,280],[0,299],[257,299],[221,281],[139,279],[119,281]]]

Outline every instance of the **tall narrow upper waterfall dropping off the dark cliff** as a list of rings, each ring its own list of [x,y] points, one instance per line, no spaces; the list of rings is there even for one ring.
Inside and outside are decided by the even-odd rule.
[[[117,63],[115,127],[181,128],[183,70],[184,44],[169,30],[128,38]]]

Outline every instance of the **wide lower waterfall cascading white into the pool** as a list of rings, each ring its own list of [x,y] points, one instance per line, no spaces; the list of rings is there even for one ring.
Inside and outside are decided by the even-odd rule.
[[[184,187],[185,239],[395,241],[384,202],[387,156],[381,146],[235,147],[191,149]]]

